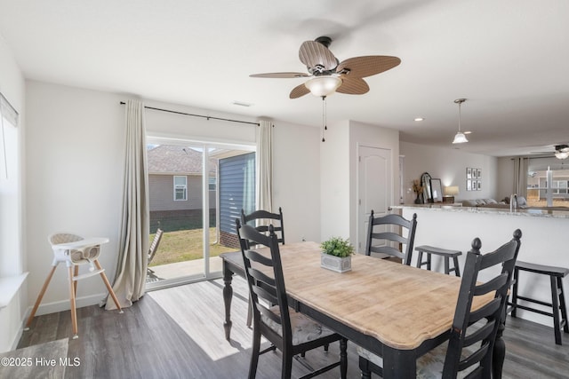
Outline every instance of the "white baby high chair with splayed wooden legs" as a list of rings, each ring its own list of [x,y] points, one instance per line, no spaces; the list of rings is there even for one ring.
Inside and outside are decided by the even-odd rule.
[[[29,315],[26,329],[34,320],[37,307],[42,302],[45,290],[52,280],[53,272],[60,263],[65,263],[68,266],[69,276],[69,300],[71,302],[71,322],[73,323],[73,338],[77,338],[77,313],[76,313],[76,293],[77,293],[77,280],[89,278],[93,275],[100,274],[100,277],[107,286],[108,293],[113,298],[116,308],[122,313],[121,305],[116,298],[115,292],[108,282],[105,269],[102,268],[97,260],[100,255],[100,245],[108,242],[108,238],[87,238],[84,239],[76,234],[71,233],[55,233],[48,237],[48,241],[53,249],[52,271],[47,275],[44,282],[44,287],[37,296],[36,304]],[[89,271],[79,274],[80,265],[90,265]],[[96,270],[95,270],[96,268]]]

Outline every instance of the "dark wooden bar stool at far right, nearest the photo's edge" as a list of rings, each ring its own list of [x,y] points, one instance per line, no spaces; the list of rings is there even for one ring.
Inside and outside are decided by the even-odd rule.
[[[519,284],[519,272],[527,271],[548,275],[551,282],[551,303],[535,300],[531,297],[517,295],[517,286]],[[536,312],[545,316],[553,317],[553,328],[555,330],[555,343],[561,344],[561,328],[565,333],[569,333],[569,325],[567,325],[567,308],[565,307],[565,295],[563,293],[563,278],[569,274],[569,269],[565,267],[555,267],[549,265],[535,265],[527,262],[517,261],[514,268],[514,289],[512,291],[511,316],[516,317],[517,308],[525,311]],[[517,300],[525,300],[526,302],[549,306],[552,312],[544,312],[536,308],[526,305],[517,304]],[[559,317],[561,312],[561,318]]]

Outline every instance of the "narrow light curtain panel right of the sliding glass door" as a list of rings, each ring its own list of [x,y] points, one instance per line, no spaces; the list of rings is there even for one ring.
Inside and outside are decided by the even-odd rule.
[[[273,211],[273,125],[260,121],[257,129],[257,207]]]

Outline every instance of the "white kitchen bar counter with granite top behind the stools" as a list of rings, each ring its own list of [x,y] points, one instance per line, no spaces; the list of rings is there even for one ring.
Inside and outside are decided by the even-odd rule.
[[[522,231],[518,260],[540,265],[569,267],[569,211],[543,209],[509,209],[461,207],[458,204],[409,204],[391,207],[409,219],[417,214],[415,246],[430,245],[442,249],[460,250],[459,265],[463,272],[466,255],[472,241],[482,241],[482,253],[498,249],[512,239],[516,229]],[[432,257],[432,268],[444,272],[440,257]],[[416,265],[414,252],[412,265]],[[481,280],[485,280],[481,276]],[[565,287],[569,288],[569,280]],[[549,277],[524,272],[519,283],[524,294],[544,302],[551,302]],[[565,291],[565,303],[569,296]],[[518,310],[518,317],[551,327],[553,320],[541,314]],[[553,332],[552,332],[553,333]]]

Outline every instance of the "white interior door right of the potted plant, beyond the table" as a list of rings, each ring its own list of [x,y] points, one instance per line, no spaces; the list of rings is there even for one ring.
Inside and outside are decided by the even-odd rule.
[[[377,216],[386,215],[392,198],[391,150],[358,146],[357,167],[357,246],[365,251],[368,218],[373,209]]]

